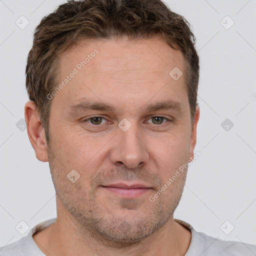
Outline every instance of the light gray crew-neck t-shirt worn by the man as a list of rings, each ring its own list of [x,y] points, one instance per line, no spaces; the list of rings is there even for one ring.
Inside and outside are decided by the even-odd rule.
[[[11,244],[0,247],[0,256],[45,256],[34,242],[32,234],[36,233],[55,222],[56,218],[43,221],[34,226],[26,236]],[[255,256],[256,245],[224,241],[202,232],[197,232],[185,221],[174,219],[176,222],[189,229],[191,242],[185,256]]]

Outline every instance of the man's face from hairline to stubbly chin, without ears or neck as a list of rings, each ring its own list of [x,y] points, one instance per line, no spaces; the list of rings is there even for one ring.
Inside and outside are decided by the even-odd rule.
[[[59,83],[75,74],[51,99],[48,160],[57,214],[70,213],[80,232],[132,243],[172,217],[186,170],[149,198],[193,156],[184,66],[159,38],[97,40],[60,56]]]

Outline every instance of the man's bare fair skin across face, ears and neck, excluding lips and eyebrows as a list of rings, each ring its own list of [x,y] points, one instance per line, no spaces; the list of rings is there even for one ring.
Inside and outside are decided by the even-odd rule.
[[[95,57],[51,99],[49,144],[34,103],[25,104],[29,140],[37,159],[49,161],[57,206],[56,221],[33,239],[54,256],[184,255],[191,233],[174,221],[173,212],[187,169],[149,200],[193,158],[199,108],[191,122],[182,53],[160,36],[81,41],[60,56],[59,82],[95,48]],[[176,81],[169,76],[175,66],[183,72]],[[83,100],[112,104],[115,110],[70,113],[69,107]],[[144,110],[165,100],[178,102],[181,111]],[[118,127],[123,118],[131,124],[126,131]],[[72,169],[80,175],[74,183],[66,176]],[[150,188],[130,198],[103,187],[117,182]]]

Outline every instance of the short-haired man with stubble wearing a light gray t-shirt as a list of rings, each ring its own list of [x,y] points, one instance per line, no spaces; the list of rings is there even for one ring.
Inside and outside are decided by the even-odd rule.
[[[25,120],[57,218],[0,255],[255,255],[173,218],[198,156],[194,42],[160,0],[71,0],[41,20]]]

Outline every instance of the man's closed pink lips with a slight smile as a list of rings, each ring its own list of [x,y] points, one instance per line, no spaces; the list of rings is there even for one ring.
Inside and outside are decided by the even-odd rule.
[[[107,192],[118,195],[122,198],[136,198],[151,191],[153,188],[144,184],[115,183],[102,185]]]

